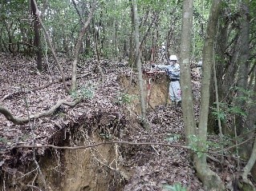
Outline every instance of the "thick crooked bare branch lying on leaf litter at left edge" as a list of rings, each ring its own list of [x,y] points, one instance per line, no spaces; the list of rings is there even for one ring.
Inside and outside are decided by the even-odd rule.
[[[18,118],[18,117],[15,117],[12,113],[10,113],[10,110],[7,109],[6,107],[4,107],[3,105],[0,105],[0,113],[2,113],[6,117],[6,119],[8,121],[13,122],[15,125],[24,125],[27,122],[29,122],[31,119],[38,119],[40,117],[46,117],[48,115],[51,115],[52,113],[55,112],[56,109],[59,108],[60,105],[67,105],[67,106],[70,106],[70,107],[74,107],[80,101],[82,101],[82,98],[79,98],[77,101],[74,101],[74,102],[60,100],[60,101],[57,102],[56,105],[51,107],[51,109],[47,110],[46,112],[32,115],[29,118]]]

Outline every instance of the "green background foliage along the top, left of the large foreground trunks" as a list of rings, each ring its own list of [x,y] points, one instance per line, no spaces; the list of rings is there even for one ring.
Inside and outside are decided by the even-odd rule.
[[[43,24],[46,27],[51,37],[51,42],[55,47],[55,51],[63,51],[71,54],[75,48],[77,38],[81,29],[81,22],[79,15],[76,13],[75,7],[71,1],[55,0],[48,1],[44,5],[43,1],[38,1],[39,11],[42,14]],[[82,15],[83,21],[87,20],[88,12],[90,11],[89,1],[76,2],[77,9]],[[100,29],[98,36],[98,48],[101,56],[104,58],[120,57],[124,54],[124,43],[126,43],[127,50],[129,47],[129,37],[132,34],[132,18],[130,1],[104,1],[97,2],[93,19],[87,30],[87,36],[83,38],[83,42],[87,38],[90,40],[90,48],[94,50],[94,29]],[[30,47],[26,46],[27,42],[33,44],[34,30],[30,16],[29,1],[15,0],[0,2],[0,14],[2,22],[2,42],[16,43],[19,45],[19,50],[30,51]],[[46,7],[44,7],[46,6]],[[148,30],[149,23],[153,18],[159,18],[155,25],[145,38],[144,47],[150,49],[152,46],[152,39],[156,38],[156,46],[161,42],[166,42],[167,34],[170,28],[172,31],[169,36],[169,44],[176,44],[179,40],[181,32],[181,6],[182,2],[177,0],[138,0],[138,14],[140,19],[140,37],[143,37]],[[42,11],[45,8],[45,12]],[[11,25],[10,25],[11,23]],[[10,26],[10,27],[9,27]],[[7,31],[8,30],[8,31]],[[9,37],[9,34],[14,34]],[[43,49],[47,49],[46,41],[43,40],[44,35],[41,30],[41,43]],[[9,42],[9,38],[12,42]],[[26,42],[19,43],[19,42]],[[87,41],[89,42],[89,41]],[[18,44],[19,43],[19,44]],[[16,48],[17,49],[17,48]],[[49,49],[48,49],[49,50]],[[170,51],[177,52],[178,46],[171,46]],[[45,51],[45,50],[43,50]],[[33,52],[30,52],[33,54]],[[93,53],[87,52],[83,54],[84,58],[93,57]]]

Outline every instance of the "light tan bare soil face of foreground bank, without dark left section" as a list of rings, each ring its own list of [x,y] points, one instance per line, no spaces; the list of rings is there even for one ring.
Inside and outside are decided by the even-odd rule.
[[[101,141],[97,135],[91,135],[79,144],[91,145]],[[104,191],[122,190],[124,187],[124,176],[127,172],[118,161],[117,145],[64,149],[62,153],[52,153],[52,156],[53,160],[47,157],[40,165],[51,190]]]

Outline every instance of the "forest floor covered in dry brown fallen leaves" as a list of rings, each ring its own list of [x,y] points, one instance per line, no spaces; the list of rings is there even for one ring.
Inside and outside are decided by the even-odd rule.
[[[16,168],[22,164],[21,161],[24,162],[26,158],[33,156],[33,149],[26,146],[22,148],[21,145],[37,145],[37,155],[43,155],[46,149],[40,147],[42,145],[62,146],[61,141],[53,138],[56,132],[63,128],[71,129],[83,121],[83,125],[91,128],[91,131],[99,128],[99,134],[103,135],[105,140],[108,139],[107,141],[145,143],[138,146],[120,146],[121,163],[128,172],[124,190],[171,190],[165,185],[179,184],[186,190],[204,190],[193,164],[189,161],[188,150],[179,146],[185,145],[182,109],[165,104],[148,109],[151,128],[145,130],[137,120],[136,114],[131,112],[131,108],[127,109],[128,106],[122,103],[124,87],[120,86],[120,74],[131,74],[126,62],[102,61],[100,65],[104,71],[104,83],[100,83],[101,76],[95,61],[79,62],[78,77],[81,78],[78,79],[78,90],[68,95],[62,82],[59,82],[60,74],[51,58],[43,62],[42,73],[37,72],[35,60],[32,58],[0,54],[0,60],[0,104],[9,109],[15,117],[33,118],[35,113],[48,111],[60,100],[71,102],[81,95],[84,97],[75,107],[61,105],[51,115],[31,120],[24,125],[14,125],[6,120],[4,115],[0,115],[2,172],[11,173],[11,167]],[[69,77],[71,60],[59,58],[59,61]],[[67,81],[67,85],[70,86],[70,81]],[[200,78],[193,74],[196,118],[200,101],[199,89]],[[115,120],[116,129],[111,129],[112,121]],[[110,130],[102,128],[106,125]],[[216,136],[209,138],[217,141]],[[152,142],[160,144],[151,145]],[[226,187],[233,190],[231,188],[236,171],[235,161],[226,158],[223,165],[216,156],[210,156],[208,161],[210,168],[219,174]]]

